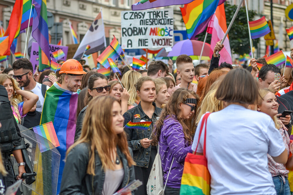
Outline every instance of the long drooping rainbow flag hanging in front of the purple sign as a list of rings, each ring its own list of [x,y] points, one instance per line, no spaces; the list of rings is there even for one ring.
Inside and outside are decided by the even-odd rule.
[[[32,37],[39,44],[39,70],[44,70],[50,67],[47,1],[32,0],[32,4],[35,4]]]

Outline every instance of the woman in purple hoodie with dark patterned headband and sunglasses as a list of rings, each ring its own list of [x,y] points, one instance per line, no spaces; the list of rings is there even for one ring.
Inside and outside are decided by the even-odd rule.
[[[196,117],[198,99],[193,91],[185,88],[177,89],[156,123],[153,140],[159,143],[164,184],[171,167],[165,195],[180,194],[184,160],[187,153],[192,152],[193,121]]]

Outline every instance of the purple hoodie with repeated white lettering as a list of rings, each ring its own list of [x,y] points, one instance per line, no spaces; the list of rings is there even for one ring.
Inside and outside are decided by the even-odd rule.
[[[177,120],[176,116],[164,119],[164,125],[161,127],[160,135],[160,156],[164,173],[164,184],[166,182],[168,172],[174,162],[168,177],[167,186],[180,188],[181,177],[183,173],[184,160],[188,152],[192,152],[191,145],[184,139],[182,125]]]

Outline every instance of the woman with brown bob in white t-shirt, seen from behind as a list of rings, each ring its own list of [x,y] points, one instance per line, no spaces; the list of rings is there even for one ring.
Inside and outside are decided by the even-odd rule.
[[[206,132],[204,125],[200,139],[204,115],[198,123],[192,150],[197,148],[196,154],[203,154],[206,133],[210,194],[276,194],[267,154],[285,164],[287,150],[272,118],[247,109],[257,103],[258,97],[258,86],[251,74],[242,68],[233,69],[216,92],[216,98],[224,101],[224,109],[208,116]]]

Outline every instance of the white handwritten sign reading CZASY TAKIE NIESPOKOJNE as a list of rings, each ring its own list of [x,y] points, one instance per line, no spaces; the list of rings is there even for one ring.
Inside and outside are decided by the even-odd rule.
[[[173,9],[121,12],[122,49],[173,46]]]

